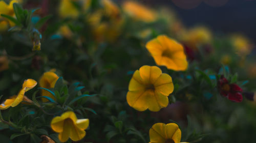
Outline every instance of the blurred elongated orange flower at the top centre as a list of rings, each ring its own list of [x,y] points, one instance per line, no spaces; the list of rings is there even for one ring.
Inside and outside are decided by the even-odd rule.
[[[153,22],[157,18],[154,10],[133,1],[124,2],[123,10],[133,18],[144,22]]]

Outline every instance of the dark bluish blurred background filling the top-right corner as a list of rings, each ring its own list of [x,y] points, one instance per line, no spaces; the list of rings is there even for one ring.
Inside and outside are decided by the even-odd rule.
[[[256,42],[256,0],[207,0],[208,4],[199,1],[203,0],[143,0],[142,3],[169,6],[188,27],[205,24],[214,32],[239,32]]]

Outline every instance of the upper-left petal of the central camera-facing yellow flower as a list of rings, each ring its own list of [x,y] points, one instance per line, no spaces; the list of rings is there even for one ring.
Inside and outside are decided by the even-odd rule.
[[[145,85],[142,82],[140,73],[138,70],[136,70],[129,83],[129,91],[138,91],[138,90],[144,90],[144,89],[145,89]]]

